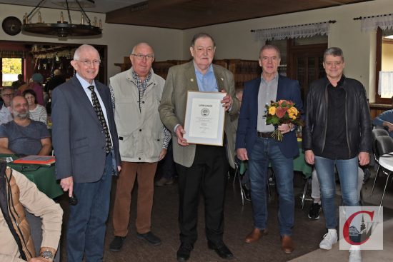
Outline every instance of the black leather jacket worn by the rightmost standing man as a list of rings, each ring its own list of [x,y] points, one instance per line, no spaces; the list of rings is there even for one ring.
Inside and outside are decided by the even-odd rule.
[[[348,158],[372,148],[372,125],[366,90],[362,83],[342,76],[345,91],[345,121],[347,128]],[[303,148],[312,149],[316,156],[324,150],[327,133],[328,94],[327,77],[312,82],[306,102],[306,124],[303,128]]]

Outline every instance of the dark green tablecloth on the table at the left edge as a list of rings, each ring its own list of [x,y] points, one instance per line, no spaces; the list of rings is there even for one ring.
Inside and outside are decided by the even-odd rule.
[[[14,160],[17,158],[14,155],[0,154],[0,157],[11,156]],[[7,166],[14,168],[16,171],[23,173],[29,180],[36,184],[40,191],[49,196],[49,198],[56,198],[61,196],[64,191],[61,189],[58,181],[56,181],[54,174],[54,165],[39,166],[31,164],[7,163]]]

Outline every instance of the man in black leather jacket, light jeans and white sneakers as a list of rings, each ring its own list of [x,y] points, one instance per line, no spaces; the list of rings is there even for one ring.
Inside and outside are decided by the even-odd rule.
[[[315,165],[322,193],[327,233],[319,248],[337,243],[334,166],[339,173],[343,206],[358,206],[358,165],[369,163],[372,129],[366,89],[344,76],[342,49],[324,52],[326,77],[312,82],[307,94],[306,125],[303,129],[304,157]],[[359,246],[352,246],[349,262],[362,261]]]

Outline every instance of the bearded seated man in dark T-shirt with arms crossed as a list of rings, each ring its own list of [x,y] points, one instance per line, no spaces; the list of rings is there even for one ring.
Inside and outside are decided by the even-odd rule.
[[[29,106],[23,96],[11,100],[14,118],[0,126],[0,153],[46,156],[52,150],[45,124],[29,119]]]

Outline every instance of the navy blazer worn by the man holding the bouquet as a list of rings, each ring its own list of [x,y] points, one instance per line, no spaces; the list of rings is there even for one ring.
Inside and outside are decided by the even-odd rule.
[[[258,117],[258,92],[261,78],[247,81],[244,84],[242,107],[240,109],[239,124],[236,133],[236,148],[247,148],[250,155],[257,139],[257,117]],[[277,99],[293,101],[299,111],[303,109],[302,98],[300,95],[299,82],[279,76],[277,88]],[[297,138],[294,131],[284,134],[281,142],[276,142],[280,150],[287,158],[299,155]]]

